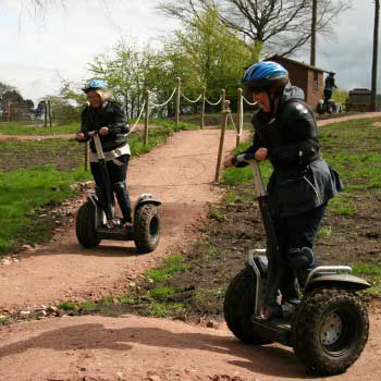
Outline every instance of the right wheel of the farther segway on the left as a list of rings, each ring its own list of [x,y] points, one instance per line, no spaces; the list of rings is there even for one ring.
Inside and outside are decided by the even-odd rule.
[[[160,241],[159,209],[152,204],[142,205],[134,220],[134,241],[138,253],[151,253]]]

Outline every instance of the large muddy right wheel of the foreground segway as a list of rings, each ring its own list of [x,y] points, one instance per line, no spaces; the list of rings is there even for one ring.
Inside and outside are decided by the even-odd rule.
[[[295,314],[293,346],[315,373],[340,374],[361,354],[368,331],[367,310],[354,292],[318,288],[304,297]]]

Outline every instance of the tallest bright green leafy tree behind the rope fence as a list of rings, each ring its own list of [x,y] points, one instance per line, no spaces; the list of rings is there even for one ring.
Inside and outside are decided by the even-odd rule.
[[[200,94],[207,87],[208,97],[218,98],[226,89],[228,98],[235,100],[238,79],[251,62],[247,46],[220,21],[213,9],[207,9],[192,23],[185,23],[170,41],[172,58],[180,54],[181,77],[187,91]]]

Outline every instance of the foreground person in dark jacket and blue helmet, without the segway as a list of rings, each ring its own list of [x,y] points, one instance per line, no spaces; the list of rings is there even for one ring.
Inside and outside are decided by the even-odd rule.
[[[255,135],[245,153],[269,160],[273,172],[268,198],[278,238],[278,270],[282,273],[282,298],[295,298],[295,275],[302,286],[317,266],[314,242],[329,199],[341,190],[339,174],[321,158],[318,128],[303,91],[292,86],[288,72],[279,63],[262,61],[246,70],[242,84],[260,110],[253,115]],[[244,167],[228,156],[225,167]],[[273,300],[273,303],[275,303]],[[265,316],[281,314],[276,304]]]

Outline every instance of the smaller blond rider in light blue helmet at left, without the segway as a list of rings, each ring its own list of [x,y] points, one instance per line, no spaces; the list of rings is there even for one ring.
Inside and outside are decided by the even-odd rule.
[[[130,131],[125,113],[120,103],[111,100],[103,81],[91,79],[83,90],[87,95],[88,106],[81,114],[81,132],[75,137],[81,143],[87,142],[90,139],[88,132],[98,131],[111,186],[123,214],[122,223],[126,229],[132,229],[131,201],[125,183],[131,156],[130,146],[124,136]],[[96,182],[96,194],[105,210],[106,185],[94,142],[90,143],[90,169]]]

